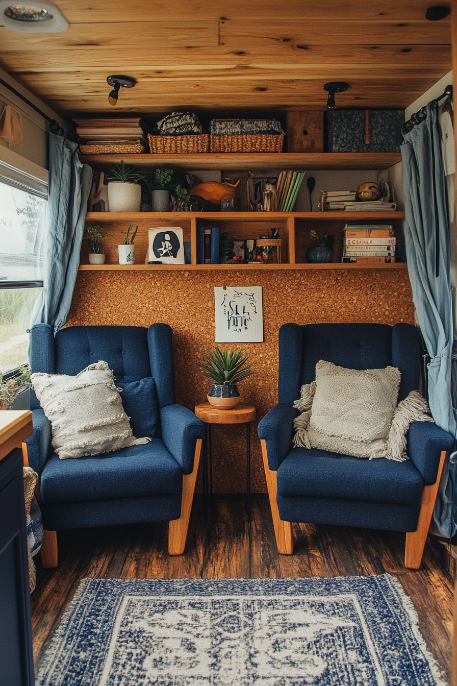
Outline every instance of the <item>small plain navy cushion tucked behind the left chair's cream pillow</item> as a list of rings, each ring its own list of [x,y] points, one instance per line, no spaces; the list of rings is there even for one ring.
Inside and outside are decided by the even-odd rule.
[[[152,377],[117,383],[121,388],[121,401],[135,438],[160,438],[160,416],[157,402],[156,381]]]

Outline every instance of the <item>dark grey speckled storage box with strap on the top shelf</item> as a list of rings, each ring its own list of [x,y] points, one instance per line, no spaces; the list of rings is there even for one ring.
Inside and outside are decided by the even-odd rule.
[[[400,152],[404,110],[369,110],[369,143],[365,143],[365,110],[326,113],[325,152]]]

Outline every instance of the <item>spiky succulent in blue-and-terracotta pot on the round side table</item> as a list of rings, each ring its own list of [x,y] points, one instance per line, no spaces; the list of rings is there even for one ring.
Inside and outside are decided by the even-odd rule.
[[[200,371],[204,377],[212,381],[211,390],[208,393],[208,401],[211,405],[219,407],[219,410],[230,410],[240,401],[237,383],[249,377],[253,372],[249,366],[245,366],[249,355],[242,350],[235,353],[221,352],[216,348],[208,353],[200,362]]]

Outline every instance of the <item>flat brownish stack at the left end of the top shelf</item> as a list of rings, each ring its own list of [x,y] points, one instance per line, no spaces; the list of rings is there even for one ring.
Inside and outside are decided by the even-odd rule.
[[[84,154],[141,154],[145,137],[141,119],[75,119],[79,147]]]

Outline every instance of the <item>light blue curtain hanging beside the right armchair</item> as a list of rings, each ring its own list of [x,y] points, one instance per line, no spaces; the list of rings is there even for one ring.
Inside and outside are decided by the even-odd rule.
[[[449,222],[438,106],[404,135],[401,146],[405,194],[405,244],[412,299],[430,354],[428,400],[436,424],[457,436],[451,399],[453,342],[452,295],[449,283]],[[455,465],[445,464],[430,531],[454,534]]]

